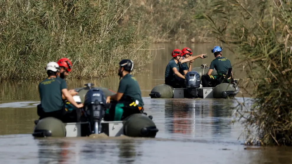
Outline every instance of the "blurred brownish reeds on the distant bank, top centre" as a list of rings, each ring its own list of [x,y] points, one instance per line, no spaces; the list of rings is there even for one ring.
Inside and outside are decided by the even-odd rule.
[[[123,22],[140,12],[138,31],[152,43],[213,42],[210,23],[194,19],[196,13],[205,12],[211,4],[211,0],[132,0]]]

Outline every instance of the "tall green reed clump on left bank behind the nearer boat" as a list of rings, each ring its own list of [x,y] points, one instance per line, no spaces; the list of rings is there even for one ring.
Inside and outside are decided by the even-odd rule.
[[[73,78],[116,73],[123,58],[150,59],[148,40],[137,32],[139,15],[119,24],[125,1],[1,1],[0,79],[45,78],[45,65],[73,63]]]

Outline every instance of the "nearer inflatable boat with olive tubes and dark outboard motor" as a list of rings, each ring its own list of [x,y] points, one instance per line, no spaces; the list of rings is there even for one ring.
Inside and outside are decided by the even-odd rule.
[[[109,137],[126,135],[129,137],[155,137],[158,129],[152,116],[146,113],[132,114],[122,121],[105,121],[106,96],[115,94],[113,91],[96,87],[92,83],[84,88],[75,88],[78,92],[73,99],[83,103],[79,122],[63,123],[60,119],[46,117],[35,120],[32,135],[34,137],[84,137],[91,134],[105,133]]]

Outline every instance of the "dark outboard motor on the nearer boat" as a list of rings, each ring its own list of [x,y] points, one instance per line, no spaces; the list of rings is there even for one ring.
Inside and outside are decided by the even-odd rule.
[[[84,98],[86,115],[91,122],[91,132],[98,134],[101,119],[105,114],[106,98],[101,89],[91,88],[87,91]],[[94,131],[92,129],[94,127]]]

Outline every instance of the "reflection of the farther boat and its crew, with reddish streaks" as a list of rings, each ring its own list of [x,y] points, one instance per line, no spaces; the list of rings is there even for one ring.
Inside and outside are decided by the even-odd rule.
[[[175,137],[221,140],[231,137],[234,100],[172,99],[165,101],[167,131]]]

